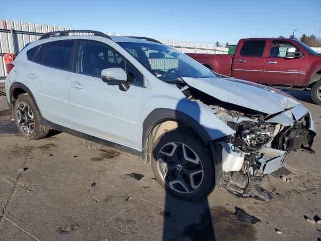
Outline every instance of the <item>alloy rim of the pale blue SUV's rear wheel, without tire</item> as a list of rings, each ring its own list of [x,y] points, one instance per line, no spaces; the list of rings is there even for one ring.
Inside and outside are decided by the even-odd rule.
[[[34,114],[26,102],[17,106],[17,121],[20,129],[27,135],[31,135],[35,129]]]

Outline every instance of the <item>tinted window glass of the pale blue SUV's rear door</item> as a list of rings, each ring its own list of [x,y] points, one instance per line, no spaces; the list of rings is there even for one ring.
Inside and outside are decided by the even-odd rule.
[[[73,44],[74,41],[59,41],[46,44],[42,63],[50,67],[69,69]]]

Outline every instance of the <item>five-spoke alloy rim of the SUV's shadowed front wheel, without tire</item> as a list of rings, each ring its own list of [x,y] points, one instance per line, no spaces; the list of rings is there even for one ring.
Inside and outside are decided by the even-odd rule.
[[[157,154],[157,171],[168,187],[185,194],[196,192],[204,177],[199,156],[180,142],[170,142],[161,148]]]

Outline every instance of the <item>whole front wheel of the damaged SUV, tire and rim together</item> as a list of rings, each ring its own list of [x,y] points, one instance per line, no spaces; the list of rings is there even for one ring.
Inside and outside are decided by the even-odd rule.
[[[184,150],[190,161],[184,158]],[[214,189],[215,170],[212,155],[204,142],[191,134],[189,129],[179,128],[167,132],[155,141],[151,154],[151,168],[157,182],[168,193],[178,198],[197,201],[207,197]],[[201,169],[203,173],[200,172]],[[183,182],[187,188],[182,185]]]

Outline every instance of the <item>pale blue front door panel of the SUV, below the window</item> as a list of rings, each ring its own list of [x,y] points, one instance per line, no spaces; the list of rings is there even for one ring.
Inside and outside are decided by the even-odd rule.
[[[121,91],[100,78],[70,75],[69,104],[74,129],[135,147],[140,99],[144,88]]]

